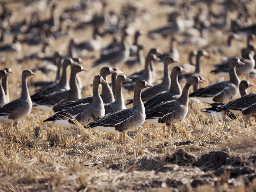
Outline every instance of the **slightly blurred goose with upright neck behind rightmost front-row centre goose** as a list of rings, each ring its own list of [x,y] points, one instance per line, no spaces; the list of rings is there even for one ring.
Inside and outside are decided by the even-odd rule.
[[[198,52],[197,52],[197,55],[196,55],[195,72],[194,73],[182,73],[182,74],[178,75],[179,82],[181,82],[182,80],[188,80],[188,78],[191,75],[197,75],[197,76],[199,76],[199,78],[201,80],[206,81],[206,79],[202,75],[200,75],[200,73],[203,73],[200,58],[202,56],[208,57],[209,55],[210,54],[208,52],[206,52],[204,49],[199,49]],[[196,91],[199,88],[199,84],[194,84],[193,88],[194,88],[194,91]]]

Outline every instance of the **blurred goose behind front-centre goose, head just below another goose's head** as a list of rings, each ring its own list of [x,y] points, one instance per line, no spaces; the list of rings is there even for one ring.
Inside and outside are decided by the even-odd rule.
[[[128,91],[133,91],[135,88],[135,84],[138,80],[142,79],[148,81],[150,84],[153,83],[152,73],[150,70],[150,62],[151,61],[159,61],[160,59],[156,57],[154,54],[149,54],[145,61],[145,69],[142,75],[132,75],[128,76],[128,78],[132,79],[130,82],[123,83],[123,87]]]

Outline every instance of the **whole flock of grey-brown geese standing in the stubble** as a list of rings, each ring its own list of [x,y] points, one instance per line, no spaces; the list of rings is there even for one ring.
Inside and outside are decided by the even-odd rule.
[[[89,2],[89,1],[88,1]],[[92,2],[91,2],[92,3]],[[4,4],[1,4],[3,14],[2,20],[7,20],[8,14]],[[52,16],[48,20],[36,20],[29,23],[20,24],[20,26],[11,26],[9,31],[18,30],[23,35],[33,34],[32,29],[39,29],[44,32],[44,38],[57,38],[58,32],[62,29],[56,26],[56,18],[53,17],[53,11],[57,4],[52,4]],[[84,4],[86,7],[86,4]],[[138,44],[138,38],[144,35],[144,32],[137,31],[134,35],[135,43],[129,43],[130,35],[128,34],[129,25],[122,27],[122,38],[113,38],[113,43],[106,47],[101,44],[102,31],[100,26],[105,25],[108,28],[109,34],[114,33],[119,25],[114,25],[106,18],[107,4],[102,3],[102,16],[94,15],[91,20],[79,23],[74,28],[82,28],[84,25],[93,26],[93,37],[89,41],[76,42],[71,39],[68,46],[68,53],[61,54],[55,52],[51,57],[46,55],[39,56],[39,54],[26,55],[18,58],[18,62],[23,62],[29,59],[38,60],[52,60],[53,68],[56,72],[55,82],[34,82],[33,86],[39,87],[33,95],[28,93],[27,78],[36,75],[34,71],[53,70],[48,66],[36,68],[32,71],[24,70],[22,72],[21,96],[18,99],[9,100],[8,80],[7,76],[13,72],[10,68],[0,70],[1,88],[0,88],[0,121],[3,123],[12,124],[18,128],[18,123],[21,118],[27,116],[32,108],[38,108],[45,111],[55,112],[52,116],[44,120],[49,122],[47,126],[62,126],[66,128],[76,128],[81,124],[86,129],[98,129],[105,132],[113,132],[121,134],[121,143],[126,143],[125,133],[140,127],[144,122],[154,124],[156,126],[167,127],[168,133],[171,134],[170,126],[176,122],[183,120],[188,114],[189,100],[191,102],[206,102],[211,105],[211,108],[203,109],[201,112],[218,119],[227,116],[229,119],[236,119],[238,116],[243,116],[245,120],[245,127],[250,116],[256,115],[256,93],[247,94],[246,89],[254,84],[248,81],[240,81],[238,76],[254,76],[255,69],[255,54],[254,46],[252,45],[255,35],[252,29],[247,30],[247,46],[242,52],[242,57],[228,58],[220,65],[216,65],[216,69],[212,71],[214,74],[221,76],[229,76],[227,81],[217,81],[208,86],[199,89],[200,83],[208,81],[202,75],[203,68],[200,64],[201,57],[209,57],[209,53],[204,49],[199,48],[197,51],[192,51],[189,54],[190,64],[179,63],[179,52],[176,49],[177,39],[175,35],[188,32],[188,20],[182,20],[183,11],[172,12],[169,15],[168,24],[164,27],[154,29],[148,32],[149,38],[163,38],[170,36],[170,51],[163,53],[157,48],[149,50],[146,58],[143,57],[143,46]],[[83,4],[77,5],[78,10],[85,9]],[[72,9],[67,9],[63,12],[65,17],[69,20],[72,18]],[[71,14],[70,14],[71,13]],[[142,14],[142,13],[141,13]],[[203,13],[202,13],[203,14]],[[231,30],[230,13],[225,15],[225,20],[222,23],[212,23],[211,28],[217,28],[223,32]],[[127,22],[132,20],[133,16],[138,16],[138,13],[127,16]],[[110,15],[108,14],[108,17]],[[113,18],[112,18],[113,19]],[[62,18],[64,20],[64,16]],[[207,28],[206,20],[202,17],[195,17],[194,27],[200,33]],[[204,22],[203,22],[204,21]],[[107,23],[109,22],[109,23]],[[186,25],[184,24],[186,23]],[[107,25],[108,24],[108,25]],[[198,26],[199,27],[196,27]],[[111,28],[111,27],[112,28]],[[70,26],[69,26],[70,27]],[[116,27],[116,28],[115,28]],[[237,26],[236,26],[237,27]],[[239,28],[239,26],[237,27]],[[241,28],[241,26],[240,26]],[[60,30],[60,31],[58,31]],[[68,29],[67,29],[68,30]],[[1,26],[1,39],[3,39],[4,31],[6,29]],[[248,32],[249,31],[249,32]],[[255,31],[254,31],[255,32]],[[59,34],[60,35],[60,34]],[[55,37],[53,37],[55,36]],[[231,39],[234,39],[234,33],[229,33],[228,44]],[[27,43],[42,40],[42,34],[33,34],[33,38]],[[23,42],[26,38],[23,39]],[[28,37],[27,37],[28,40]],[[13,44],[21,40],[14,39]],[[48,42],[42,40],[43,52]],[[120,41],[120,44],[118,43]],[[185,42],[185,41],[184,41]],[[13,45],[12,44],[12,45]],[[13,48],[7,44],[0,47],[0,52],[9,52]],[[83,60],[76,57],[80,52],[99,52],[104,50],[98,60],[96,60],[92,67],[103,66],[100,69],[99,75],[96,75],[92,81],[92,95],[82,98],[82,82],[78,73],[87,71],[82,67]],[[13,51],[13,50],[12,50]],[[157,62],[164,63],[163,79],[159,84],[154,84],[157,79],[156,69],[154,64]],[[144,65],[145,67],[130,76],[125,76],[123,72],[116,66],[125,64],[126,68],[138,67]],[[71,73],[68,80],[67,69],[71,67]],[[109,67],[111,66],[111,67]],[[170,66],[172,66],[170,74]],[[183,69],[184,68],[184,69]],[[186,69],[186,70],[185,70]],[[90,69],[89,69],[90,70]],[[85,72],[84,72],[85,73]],[[60,75],[61,74],[61,75]],[[111,75],[111,86],[108,84],[107,76]],[[186,81],[183,89],[180,87],[181,81]],[[101,84],[102,92],[99,92]],[[153,85],[151,85],[153,84]],[[189,88],[193,85],[194,92],[188,93]],[[143,90],[145,89],[145,90]],[[126,92],[134,92],[133,98],[127,100],[126,104],[133,104],[132,108],[126,108],[122,90]],[[241,97],[234,100],[240,91]],[[213,115],[214,114],[214,115]],[[224,117],[223,117],[224,118]]]

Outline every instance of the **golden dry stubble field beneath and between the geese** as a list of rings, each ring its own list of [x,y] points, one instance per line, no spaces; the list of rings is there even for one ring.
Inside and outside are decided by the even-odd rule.
[[[127,3],[108,2],[116,12]],[[164,25],[167,10],[155,1],[140,2],[148,6],[144,7],[144,22],[138,21],[136,25],[138,29],[147,31]],[[62,7],[67,5],[67,2],[61,4]],[[21,12],[23,9],[18,9],[22,6],[24,8],[23,3],[8,4],[16,10],[13,21],[25,17]],[[87,34],[91,34],[92,30],[71,30],[69,33],[84,40],[90,38]],[[218,32],[212,33],[211,37],[209,40],[212,43],[206,49],[210,52],[210,59],[202,59],[204,76],[210,81],[201,86],[219,78],[209,74],[212,64],[220,62],[221,55],[213,53],[216,47],[223,50],[223,55],[233,56],[240,55],[240,49],[245,46],[244,37],[240,41],[235,40],[230,50],[223,43],[227,39],[225,35]],[[8,36],[5,40],[10,42]],[[110,36],[103,39],[104,43],[110,41]],[[151,47],[162,51],[169,49],[165,39],[150,40],[143,36],[139,41],[146,46],[145,54]],[[68,38],[60,37],[47,51],[66,52],[67,44]],[[25,55],[40,50],[40,45],[31,48],[23,44],[22,47]],[[178,46],[181,63],[187,63],[189,51],[196,49],[193,46]],[[15,72],[9,78],[13,100],[20,94],[21,71],[43,63],[28,60],[17,64],[16,53],[0,53],[0,57],[5,58],[2,68],[10,67]],[[93,59],[83,59],[87,62],[84,67],[89,68],[89,72],[82,72],[80,76],[83,84],[87,85],[92,83],[100,67],[90,68]],[[163,65],[157,64],[156,67],[161,78]],[[134,68],[127,72],[124,66],[120,68],[127,76],[137,70]],[[54,74],[39,72],[28,82],[43,79],[53,80]],[[249,81],[256,83],[255,79]],[[253,89],[249,88],[248,92]],[[33,93],[33,88],[30,91]],[[88,86],[83,95],[91,92]],[[132,97],[131,93],[124,93],[125,99]],[[5,124],[0,126],[0,191],[255,191],[255,121],[251,120],[246,129],[241,118],[226,123],[212,121],[198,112],[203,107],[206,105],[191,106],[186,118],[172,126],[171,135],[164,135],[160,128],[153,125],[143,124],[128,133],[127,145],[120,145],[119,135],[111,133],[91,132],[82,127],[77,130],[45,127],[43,120],[51,114],[33,109],[20,121],[18,131]]]

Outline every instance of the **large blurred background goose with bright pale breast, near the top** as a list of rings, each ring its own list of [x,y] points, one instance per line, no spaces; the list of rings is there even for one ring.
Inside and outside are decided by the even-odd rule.
[[[180,19],[180,16],[183,15],[182,11],[177,11],[172,14],[174,22],[169,22],[166,26],[152,30],[148,32],[148,36],[153,39],[160,37],[165,37],[168,35],[175,35],[183,33],[185,30],[184,23]]]

